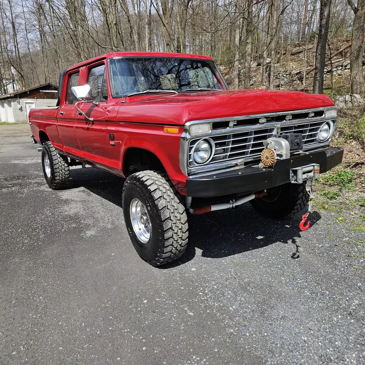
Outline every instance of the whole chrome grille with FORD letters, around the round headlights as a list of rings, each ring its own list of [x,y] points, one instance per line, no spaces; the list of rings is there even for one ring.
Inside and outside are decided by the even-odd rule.
[[[184,173],[201,174],[212,170],[222,171],[228,166],[240,166],[260,160],[265,148],[264,140],[276,134],[301,133],[303,150],[327,146],[336,128],[337,118],[326,117],[326,110],[334,107],[314,108],[308,110],[274,112],[230,118],[194,120],[185,125],[181,136],[180,166]],[[332,119],[330,138],[318,140],[320,126]],[[198,135],[190,134],[192,124],[210,123],[211,130]],[[192,158],[192,150],[200,139],[210,139],[214,144],[213,157],[204,164],[196,164]]]

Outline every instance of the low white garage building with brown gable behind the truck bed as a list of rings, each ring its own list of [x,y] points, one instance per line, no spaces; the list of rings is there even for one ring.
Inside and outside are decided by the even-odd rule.
[[[30,108],[54,107],[57,86],[44,84],[0,95],[0,122],[25,123]]]

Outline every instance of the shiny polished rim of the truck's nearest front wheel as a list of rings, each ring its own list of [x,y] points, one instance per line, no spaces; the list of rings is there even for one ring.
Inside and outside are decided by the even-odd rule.
[[[139,199],[134,198],[131,201],[129,213],[134,233],[139,241],[147,243],[151,238],[151,223],[145,206]]]

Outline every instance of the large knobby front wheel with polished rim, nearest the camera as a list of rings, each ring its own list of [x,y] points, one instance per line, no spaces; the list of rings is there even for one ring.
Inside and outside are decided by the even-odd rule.
[[[139,256],[153,266],[176,260],[188,243],[185,208],[166,178],[154,171],[137,172],[123,187],[129,237]]]

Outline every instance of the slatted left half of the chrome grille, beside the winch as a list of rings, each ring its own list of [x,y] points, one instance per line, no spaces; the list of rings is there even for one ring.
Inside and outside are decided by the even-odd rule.
[[[242,157],[259,157],[264,149],[263,142],[265,139],[272,137],[273,134],[276,134],[275,127],[212,136],[210,138],[214,141],[215,153],[208,164],[224,160],[234,160]],[[188,154],[189,166],[196,166],[192,157],[192,151],[195,143],[199,140],[200,138],[190,141]]]

